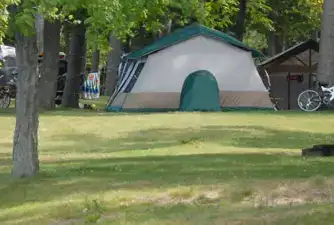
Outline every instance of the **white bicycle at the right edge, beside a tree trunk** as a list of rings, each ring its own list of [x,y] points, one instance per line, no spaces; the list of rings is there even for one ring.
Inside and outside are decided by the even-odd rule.
[[[320,85],[320,91],[312,89],[301,92],[297,98],[298,106],[305,112],[317,111],[321,106],[329,106],[334,100],[334,86]]]

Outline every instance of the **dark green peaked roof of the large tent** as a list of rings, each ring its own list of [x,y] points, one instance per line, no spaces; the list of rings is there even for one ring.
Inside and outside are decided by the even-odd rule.
[[[200,36],[200,35],[215,38],[219,41],[234,45],[234,46],[236,46],[240,49],[243,49],[245,51],[251,51],[253,57],[263,57],[263,54],[261,52],[248,47],[247,45],[245,45],[241,41],[233,38],[232,36],[195,23],[195,24],[192,24],[192,25],[187,26],[185,28],[178,29],[178,30],[172,32],[171,34],[166,35],[166,36],[158,39],[157,41],[153,42],[150,45],[147,45],[146,47],[144,47],[144,48],[142,48],[138,51],[131,52],[127,56],[127,58],[138,59],[138,58],[141,58],[143,56],[146,56],[146,55],[152,54],[154,52],[157,52],[159,50],[162,50],[164,48],[168,48],[172,45],[175,45],[175,44],[178,44],[180,42],[186,41],[186,40],[188,40],[192,37],[196,37],[196,36]]]

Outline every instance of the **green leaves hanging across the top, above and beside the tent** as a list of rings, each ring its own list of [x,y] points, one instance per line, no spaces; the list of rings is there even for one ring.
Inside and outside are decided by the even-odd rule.
[[[0,42],[8,27],[6,7],[20,0],[0,1]],[[288,40],[305,39],[320,27],[322,0],[248,0],[245,40],[252,46],[265,46],[268,31]],[[15,29],[29,35],[34,15],[48,20],[87,25],[88,45],[108,46],[108,36],[125,39],[139,28],[156,34],[166,22],[183,26],[198,21],[219,30],[229,30],[235,23],[239,0],[24,0],[15,16]],[[85,9],[87,15],[75,12]]]

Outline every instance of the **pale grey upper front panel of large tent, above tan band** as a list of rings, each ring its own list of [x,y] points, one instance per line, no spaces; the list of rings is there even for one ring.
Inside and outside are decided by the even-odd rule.
[[[185,78],[208,70],[226,91],[266,91],[250,52],[198,36],[148,57],[132,93],[180,92]]]

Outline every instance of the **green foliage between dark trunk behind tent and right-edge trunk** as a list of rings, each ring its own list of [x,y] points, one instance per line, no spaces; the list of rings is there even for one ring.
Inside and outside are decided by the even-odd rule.
[[[272,32],[286,47],[320,30],[323,0],[249,0],[245,41],[266,48]]]

